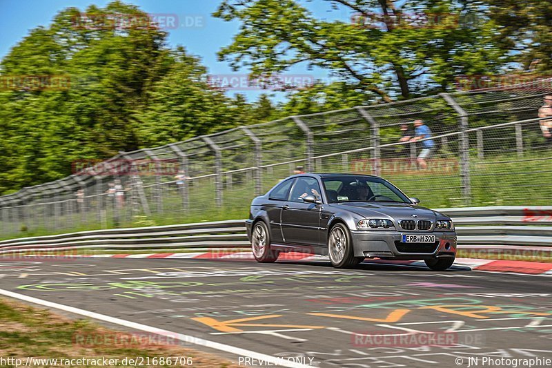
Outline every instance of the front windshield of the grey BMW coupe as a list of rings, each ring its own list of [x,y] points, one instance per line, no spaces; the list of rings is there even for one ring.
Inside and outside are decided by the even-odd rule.
[[[411,203],[397,187],[380,177],[344,175],[322,179],[330,203],[400,202]]]

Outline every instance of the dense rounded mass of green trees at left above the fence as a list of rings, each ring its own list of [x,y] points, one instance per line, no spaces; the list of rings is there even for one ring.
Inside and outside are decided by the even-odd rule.
[[[70,175],[72,162],[177,142],[236,124],[233,100],[210,88],[206,69],[166,32],[114,1],[59,12],[30,31],[0,64],[3,78],[61,75],[67,88],[0,91],[0,192]]]

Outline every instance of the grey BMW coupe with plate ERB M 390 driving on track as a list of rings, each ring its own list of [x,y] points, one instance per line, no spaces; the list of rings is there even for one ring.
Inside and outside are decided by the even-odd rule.
[[[454,224],[418,202],[377,176],[299,174],[256,197],[246,227],[258,262],[299,251],[328,255],[338,268],[380,258],[448,269],[456,255]]]

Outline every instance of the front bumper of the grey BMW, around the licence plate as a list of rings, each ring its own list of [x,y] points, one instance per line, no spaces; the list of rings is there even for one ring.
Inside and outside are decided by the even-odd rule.
[[[435,235],[435,243],[403,243],[402,234]],[[456,256],[453,231],[351,231],[355,257],[395,260],[425,260]]]

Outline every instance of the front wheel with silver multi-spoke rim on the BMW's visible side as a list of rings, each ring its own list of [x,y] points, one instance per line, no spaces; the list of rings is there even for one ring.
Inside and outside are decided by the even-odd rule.
[[[328,255],[333,267],[350,269],[362,262],[364,258],[353,255],[351,233],[344,224],[337,223],[328,233]]]

